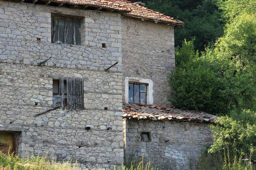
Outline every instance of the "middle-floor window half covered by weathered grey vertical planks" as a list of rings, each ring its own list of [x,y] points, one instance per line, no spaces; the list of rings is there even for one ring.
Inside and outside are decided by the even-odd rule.
[[[52,83],[53,104],[70,110],[83,109],[83,79],[61,77]]]

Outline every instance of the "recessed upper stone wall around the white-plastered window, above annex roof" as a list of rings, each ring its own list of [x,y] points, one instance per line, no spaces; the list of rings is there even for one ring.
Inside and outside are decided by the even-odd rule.
[[[122,18],[122,80],[135,77],[153,81],[153,103],[166,104],[171,88],[168,77],[175,67],[174,28]],[[153,104],[150,103],[150,104]]]

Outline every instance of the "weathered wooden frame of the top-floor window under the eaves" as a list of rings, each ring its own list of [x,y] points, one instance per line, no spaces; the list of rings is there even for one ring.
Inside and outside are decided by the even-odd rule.
[[[55,17],[61,17],[61,18],[64,18],[64,20],[65,20],[65,18],[71,18],[71,20],[73,20],[73,19],[78,19],[78,20],[80,20],[80,26],[79,26],[79,28],[80,28],[80,31],[78,31],[78,32],[80,32],[80,33],[78,33],[78,35],[74,35],[74,32],[73,32],[73,42],[72,43],[67,43],[67,42],[61,42],[60,40],[59,40],[59,38],[58,38],[58,40],[56,41],[55,40]],[[70,45],[78,45],[78,46],[81,46],[82,45],[82,35],[81,35],[81,33],[82,33],[82,30],[81,30],[81,26],[82,26],[82,21],[83,21],[83,18],[84,17],[81,17],[81,16],[72,16],[72,15],[61,15],[61,14],[56,14],[56,13],[52,13],[52,15],[51,15],[51,42],[52,43],[56,43],[56,42],[58,42],[58,43],[63,43],[63,44],[70,44]],[[73,28],[73,30],[76,30],[76,29],[74,29],[74,26],[72,25],[72,28]],[[61,31],[62,32],[62,31]],[[75,31],[75,32],[77,32],[77,31]],[[65,31],[63,30],[63,34],[65,34]],[[64,35],[65,36],[65,35]],[[75,37],[75,40],[74,40],[74,37]],[[79,37],[80,38],[80,44],[77,44],[76,43],[76,37]],[[67,36],[66,36],[66,38],[67,38]],[[64,39],[64,41],[65,41],[65,39]]]

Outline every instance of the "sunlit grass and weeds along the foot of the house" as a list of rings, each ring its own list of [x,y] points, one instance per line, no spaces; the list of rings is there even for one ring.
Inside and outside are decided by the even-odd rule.
[[[46,154],[47,155],[47,154]],[[13,155],[6,155],[0,151],[0,170],[106,170],[104,168],[92,167],[81,168],[78,164],[72,164],[71,161],[63,163],[56,162],[53,159],[47,159],[46,155],[43,156],[26,156],[19,157]],[[107,170],[158,170],[153,168],[149,163],[144,164],[143,159],[137,163],[131,163],[129,167],[115,167],[108,168]]]

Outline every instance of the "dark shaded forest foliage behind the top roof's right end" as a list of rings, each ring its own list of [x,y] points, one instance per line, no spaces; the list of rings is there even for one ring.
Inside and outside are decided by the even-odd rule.
[[[132,0],[137,2],[137,0]],[[223,35],[223,20],[215,0],[142,0],[146,7],[183,21],[184,27],[175,29],[175,46],[183,40],[195,37],[195,49],[204,51],[204,46]]]

